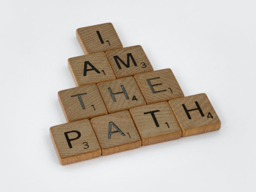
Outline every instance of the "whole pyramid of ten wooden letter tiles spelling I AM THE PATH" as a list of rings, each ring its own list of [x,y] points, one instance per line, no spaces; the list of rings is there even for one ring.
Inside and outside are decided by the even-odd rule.
[[[220,129],[205,93],[184,96],[171,69],[154,71],[140,45],[123,48],[112,23],[76,35],[77,87],[58,92],[68,123],[50,128],[62,165]]]

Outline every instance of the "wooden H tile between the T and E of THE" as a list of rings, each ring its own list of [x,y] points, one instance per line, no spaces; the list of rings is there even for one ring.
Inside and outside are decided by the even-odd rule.
[[[97,84],[109,113],[146,105],[133,77],[125,77]]]

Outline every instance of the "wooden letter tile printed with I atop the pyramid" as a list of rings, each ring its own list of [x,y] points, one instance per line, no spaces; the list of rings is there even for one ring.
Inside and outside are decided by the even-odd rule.
[[[76,36],[85,54],[123,47],[112,23],[79,28]]]

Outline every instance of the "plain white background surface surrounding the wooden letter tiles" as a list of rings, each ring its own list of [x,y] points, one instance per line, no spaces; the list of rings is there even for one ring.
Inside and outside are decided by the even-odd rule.
[[[0,191],[255,191],[255,1],[0,3]],[[49,128],[80,27],[112,22],[185,96],[206,93],[219,131],[62,166]]]

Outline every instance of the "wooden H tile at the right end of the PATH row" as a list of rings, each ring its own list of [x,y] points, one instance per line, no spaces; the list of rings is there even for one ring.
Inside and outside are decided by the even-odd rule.
[[[205,93],[173,99],[169,104],[183,137],[220,129],[219,117]]]

